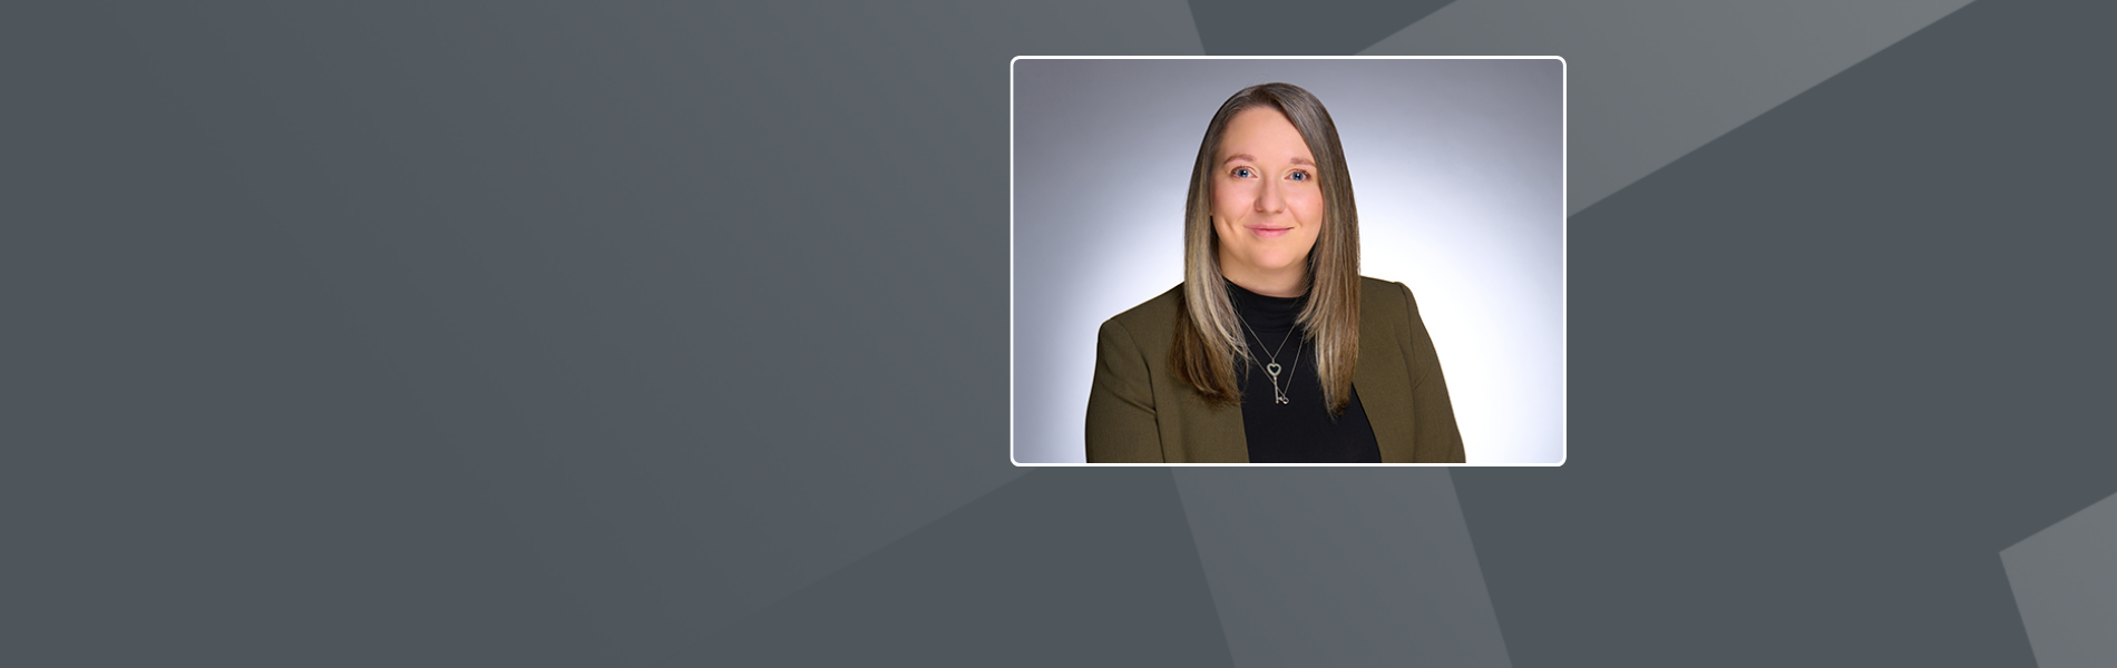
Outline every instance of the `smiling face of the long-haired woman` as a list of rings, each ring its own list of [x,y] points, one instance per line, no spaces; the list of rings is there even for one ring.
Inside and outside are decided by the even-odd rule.
[[[1228,123],[1215,159],[1219,271],[1266,294],[1302,290],[1323,230],[1323,190],[1302,133],[1274,108],[1249,108]]]

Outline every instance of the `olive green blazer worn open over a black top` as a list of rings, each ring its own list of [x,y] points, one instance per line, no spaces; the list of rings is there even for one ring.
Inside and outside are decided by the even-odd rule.
[[[1088,461],[1249,461],[1243,408],[1207,404],[1169,368],[1181,304],[1177,285],[1103,323],[1088,391]],[[1359,279],[1353,389],[1385,463],[1463,461],[1442,359],[1404,283]]]

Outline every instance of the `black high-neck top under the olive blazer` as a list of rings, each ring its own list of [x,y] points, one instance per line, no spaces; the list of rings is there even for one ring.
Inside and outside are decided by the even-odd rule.
[[[1249,440],[1249,461],[1380,463],[1382,448],[1374,442],[1368,412],[1359,408],[1359,393],[1353,393],[1353,402],[1338,419],[1323,406],[1315,347],[1306,340],[1306,330],[1293,323],[1308,296],[1262,296],[1234,283],[1228,283],[1228,296],[1234,298],[1234,315],[1243,319],[1243,336],[1249,336],[1249,353],[1255,357],[1243,374],[1243,435]],[[1274,359],[1277,393],[1266,372]],[[1279,393],[1287,395],[1287,404],[1279,404]]]

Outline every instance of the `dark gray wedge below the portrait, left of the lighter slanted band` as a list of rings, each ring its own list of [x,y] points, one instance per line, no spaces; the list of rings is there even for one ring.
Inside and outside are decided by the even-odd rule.
[[[718,634],[728,666],[1232,666],[1169,469],[1042,469]]]

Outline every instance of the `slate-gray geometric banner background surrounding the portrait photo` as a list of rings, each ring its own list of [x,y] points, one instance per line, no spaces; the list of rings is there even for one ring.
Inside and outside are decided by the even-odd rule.
[[[1588,6],[8,4],[0,664],[2032,666],[2106,611],[2001,552],[2117,493],[2117,15]],[[1797,91],[1700,125],[1620,59],[1759,42]],[[1569,156],[1622,186],[1564,467],[1006,461],[1008,59],[1207,49],[1556,53],[1575,137],[1687,133]]]

